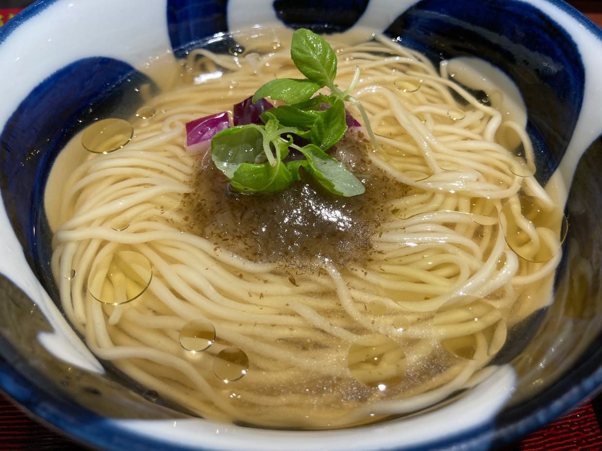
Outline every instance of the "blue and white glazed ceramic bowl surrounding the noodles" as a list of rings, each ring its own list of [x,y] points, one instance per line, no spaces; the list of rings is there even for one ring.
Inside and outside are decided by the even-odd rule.
[[[255,25],[384,31],[433,62],[483,58],[522,94],[527,129],[553,161],[539,182],[569,188],[562,271],[527,345],[453,402],[333,431],[198,419],[105,366],[55,304],[39,205],[58,150],[94,120],[90,106],[111,114],[154,83],[137,70],[154,55]],[[114,451],[488,450],[602,385],[602,31],[562,1],[42,0],[0,29],[0,68],[0,387],[75,440]]]

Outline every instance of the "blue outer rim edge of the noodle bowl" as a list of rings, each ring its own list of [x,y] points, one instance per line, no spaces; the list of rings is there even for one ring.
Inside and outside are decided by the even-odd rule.
[[[0,28],[0,45],[22,23],[40,14],[60,0],[38,0],[19,12]],[[523,0],[538,9],[552,5],[577,20],[585,31],[602,41],[602,29],[563,0]],[[600,138],[598,138],[600,139]],[[4,341],[4,337],[0,336]],[[10,344],[8,345],[10,346]],[[0,348],[4,348],[1,346]],[[495,425],[477,426],[474,429],[446,437],[438,443],[418,446],[416,450],[452,451],[461,444],[463,450],[480,450],[488,446],[498,447],[511,443],[535,431],[551,420],[575,408],[580,402],[602,392],[602,333],[586,348],[583,356],[566,377],[540,391],[533,399],[503,408],[497,414]],[[32,372],[36,370],[29,368]],[[116,426],[107,417],[93,413],[70,399],[64,399],[46,387],[37,384],[31,375],[25,375],[0,354],[0,391],[26,411],[36,421],[66,435],[85,446],[93,446],[106,451],[143,451],[150,447],[162,446],[169,451],[217,451],[206,447],[188,447],[169,441],[157,441],[137,432]],[[544,400],[544,402],[536,402]],[[73,412],[77,414],[73,415]],[[69,412],[69,414],[65,414]],[[315,432],[315,431],[314,431]],[[396,448],[397,449],[397,448]],[[403,446],[399,450],[405,449]],[[393,450],[393,449],[391,449]]]

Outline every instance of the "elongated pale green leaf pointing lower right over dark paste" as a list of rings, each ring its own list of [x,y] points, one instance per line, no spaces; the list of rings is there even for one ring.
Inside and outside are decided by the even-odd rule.
[[[364,193],[362,182],[343,163],[327,155],[319,147],[308,144],[299,150],[307,158],[306,170],[328,191],[346,197]]]

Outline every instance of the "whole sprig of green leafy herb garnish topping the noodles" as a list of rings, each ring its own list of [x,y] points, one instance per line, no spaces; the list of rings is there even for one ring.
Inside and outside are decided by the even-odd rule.
[[[343,163],[325,151],[343,138],[347,131],[344,101],[361,111],[370,137],[373,133],[367,115],[358,100],[349,95],[359,76],[359,68],[346,91],[335,85],[337,55],[320,35],[297,29],[291,41],[291,58],[306,79],[275,79],[259,88],[253,103],[263,97],[281,100],[261,115],[263,125],[235,126],[217,133],[211,140],[211,158],[230,180],[235,191],[276,192],[300,180],[303,169],[328,191],[354,196],[365,191],[364,185]],[[330,95],[314,94],[323,87]],[[299,146],[293,136],[309,142]],[[374,140],[373,140],[374,141]],[[305,159],[284,162],[290,149]]]

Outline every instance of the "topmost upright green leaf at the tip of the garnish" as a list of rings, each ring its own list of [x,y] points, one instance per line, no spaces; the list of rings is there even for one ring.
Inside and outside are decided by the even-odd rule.
[[[305,28],[297,29],[291,41],[291,58],[310,81],[320,87],[334,85],[337,54],[320,35]]]

